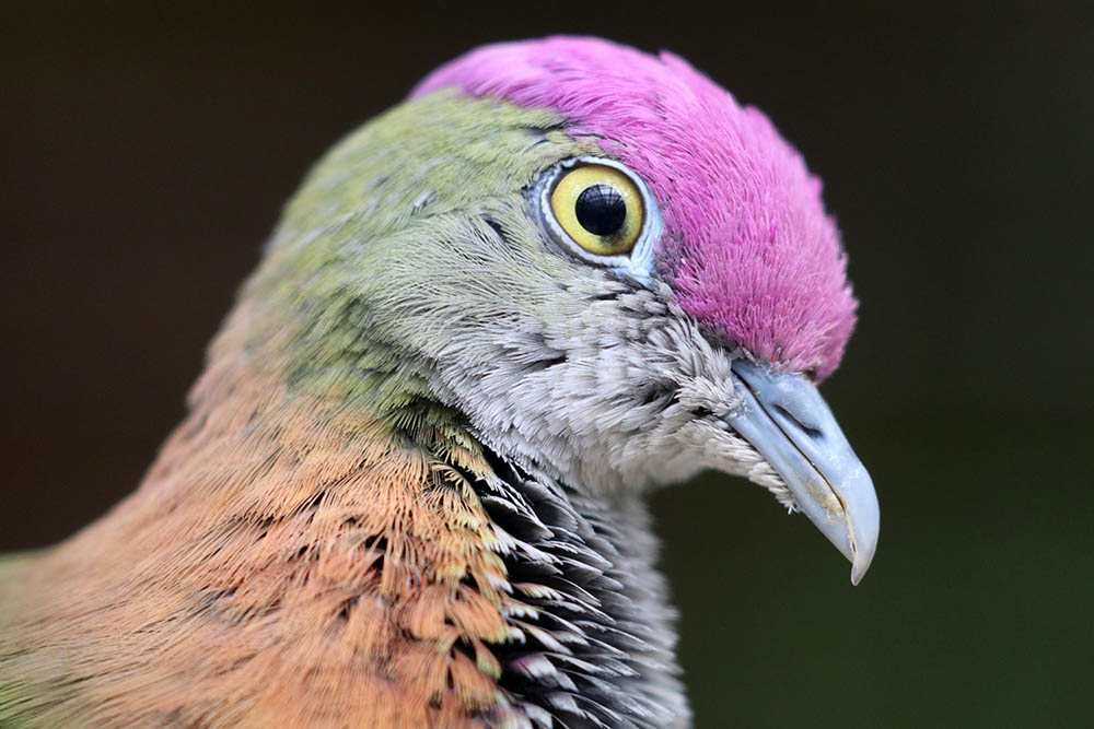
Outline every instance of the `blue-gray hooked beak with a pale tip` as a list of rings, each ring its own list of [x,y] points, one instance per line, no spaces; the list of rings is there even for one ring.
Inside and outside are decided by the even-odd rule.
[[[813,383],[745,360],[733,363],[743,402],[725,422],[785,482],[798,507],[851,561],[851,583],[866,574],[881,515],[866,469]]]

